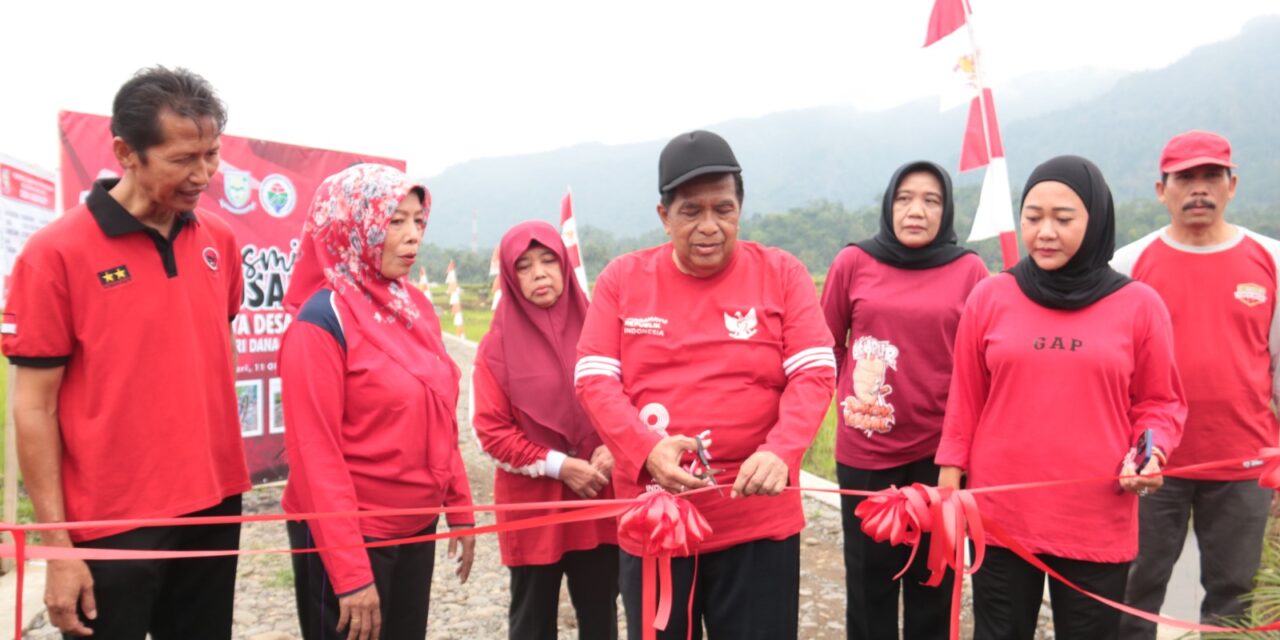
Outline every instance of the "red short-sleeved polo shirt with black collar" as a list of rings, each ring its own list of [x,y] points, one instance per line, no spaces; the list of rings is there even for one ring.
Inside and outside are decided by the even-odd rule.
[[[243,291],[236,238],[200,211],[179,215],[170,243],[111,186],[95,184],[27,241],[4,310],[14,365],[67,367],[58,422],[69,521],[174,517],[250,488],[228,325]]]

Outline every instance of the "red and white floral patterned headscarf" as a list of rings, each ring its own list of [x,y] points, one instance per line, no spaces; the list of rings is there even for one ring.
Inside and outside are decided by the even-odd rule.
[[[426,187],[390,166],[357,164],[325,178],[302,225],[284,307],[297,314],[315,292],[333,289],[366,340],[456,404],[458,369],[444,351],[430,301],[407,278],[383,276],[387,224],[410,193],[430,212]]]

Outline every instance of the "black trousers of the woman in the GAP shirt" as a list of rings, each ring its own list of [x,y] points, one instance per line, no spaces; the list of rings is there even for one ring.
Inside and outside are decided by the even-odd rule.
[[[1087,562],[1037,554],[1082,589],[1119,602],[1124,598],[1128,562]],[[974,640],[1036,637],[1044,572],[1001,547],[987,547],[982,568],[973,575]],[[1051,580],[1053,632],[1060,640],[1114,640],[1120,636],[1120,612]]]

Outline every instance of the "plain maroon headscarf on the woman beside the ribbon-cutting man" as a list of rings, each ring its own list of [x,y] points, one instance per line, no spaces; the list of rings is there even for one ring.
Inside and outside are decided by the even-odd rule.
[[[556,253],[563,271],[564,289],[548,308],[525,300],[516,276],[516,260],[534,244]],[[502,302],[479,356],[516,408],[520,429],[530,440],[590,458],[600,438],[573,394],[586,294],[568,266],[564,242],[548,223],[520,223],[502,237],[498,257]]]

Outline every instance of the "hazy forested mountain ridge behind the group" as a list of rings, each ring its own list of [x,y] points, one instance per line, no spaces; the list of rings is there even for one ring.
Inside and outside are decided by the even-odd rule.
[[[1117,201],[1152,197],[1160,150],[1172,134],[1212,129],[1234,145],[1245,205],[1280,204],[1280,15],[1258,18],[1240,35],[1196,49],[1157,70],[1119,74],[1079,69],[1019,78],[997,88],[1010,179],[1060,154],[1094,160]],[[723,134],[744,166],[751,214],[818,200],[861,206],[877,201],[896,166],[927,157],[956,166],[965,109],[938,113],[933,99],[882,111],[824,106],[728,120]],[[672,132],[672,134],[678,132]],[[658,152],[664,140],[585,143],[540,154],[479,159],[426,178],[434,197],[429,242],[466,246],[471,219],[493,246],[509,225],[552,220],[573,187],[579,224],[631,236],[658,228]],[[982,172],[957,178],[973,186]]]

